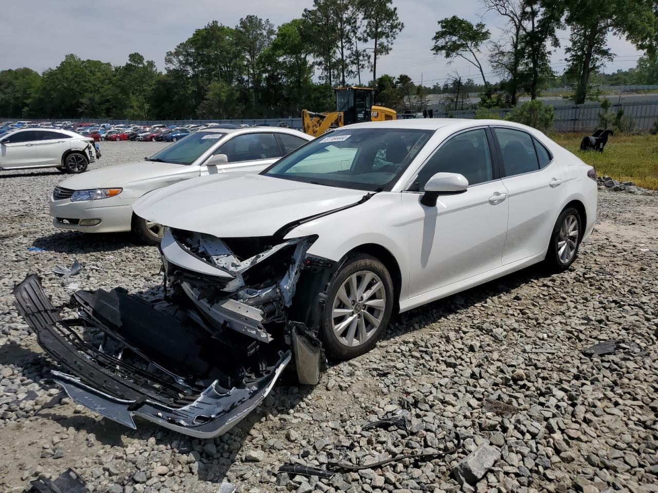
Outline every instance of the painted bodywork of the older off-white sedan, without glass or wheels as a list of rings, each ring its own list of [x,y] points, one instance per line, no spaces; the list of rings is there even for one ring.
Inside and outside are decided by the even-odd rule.
[[[240,171],[257,173],[275,162],[278,158],[259,159],[222,164],[220,166],[205,166],[204,162],[213,155],[216,149],[230,139],[247,133],[290,133],[305,141],[312,137],[296,130],[284,128],[249,128],[240,130],[215,129],[214,133],[226,133],[216,144],[207,149],[191,164],[175,164],[167,162],[137,161],[126,164],[116,164],[85,174],[72,176],[59,183],[59,187],[70,190],[96,188],[118,188],[123,190],[119,195],[100,200],[82,200],[72,202],[69,199],[56,200],[51,197],[50,215],[53,224],[62,229],[74,229],[89,233],[113,233],[130,231],[132,228],[132,204],[140,197],[155,190],[169,187],[180,181],[208,175],[224,175],[228,172]],[[176,145],[172,143],[171,145]],[[169,189],[168,189],[169,190]],[[139,214],[139,213],[138,213]],[[59,219],[58,219],[59,218]],[[100,219],[97,225],[71,224],[61,219]]]

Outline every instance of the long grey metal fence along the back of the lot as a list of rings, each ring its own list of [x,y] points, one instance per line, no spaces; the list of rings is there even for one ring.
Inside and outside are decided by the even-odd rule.
[[[628,116],[634,122],[635,128],[639,130],[647,130],[653,127],[653,124],[658,121],[658,101],[651,102],[638,102],[638,103],[620,103],[611,105],[609,112],[616,112],[618,108],[624,109],[624,116]],[[499,118],[505,118],[512,108],[499,108],[492,109],[491,112],[497,114]],[[599,103],[585,103],[584,105],[570,105],[570,106],[557,106],[555,107],[555,119],[553,120],[553,128],[557,131],[592,131],[599,126],[599,113],[601,113],[601,105]],[[475,110],[458,110],[451,112],[437,112],[434,111],[434,118],[475,118]],[[16,118],[9,120],[16,121]],[[64,119],[63,119],[64,120]],[[0,118],[0,121],[4,121]],[[32,119],[36,122],[55,122],[61,120],[38,120]],[[205,123],[218,123],[218,124],[246,124],[246,125],[265,125],[276,127],[281,124],[289,126],[290,128],[301,129],[301,118],[245,118],[242,120],[104,120],[98,118],[78,118],[75,120],[67,120],[71,122],[89,122],[89,123],[109,123],[109,124],[165,124],[165,125],[187,125],[187,124],[205,124]]]

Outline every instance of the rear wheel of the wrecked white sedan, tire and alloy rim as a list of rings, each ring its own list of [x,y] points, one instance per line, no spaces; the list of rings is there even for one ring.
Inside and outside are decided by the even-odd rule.
[[[545,264],[551,271],[563,272],[570,268],[578,256],[581,235],[580,213],[573,207],[566,208],[555,222],[546,253]]]

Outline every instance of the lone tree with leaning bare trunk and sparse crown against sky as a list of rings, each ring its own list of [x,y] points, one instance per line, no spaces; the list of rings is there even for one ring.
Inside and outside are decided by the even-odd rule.
[[[460,57],[475,66],[480,71],[482,82],[488,86],[480,58],[482,46],[488,41],[491,33],[482,22],[473,25],[466,19],[457,16],[447,17],[438,21],[439,30],[432,40],[434,55],[443,55],[448,62]]]

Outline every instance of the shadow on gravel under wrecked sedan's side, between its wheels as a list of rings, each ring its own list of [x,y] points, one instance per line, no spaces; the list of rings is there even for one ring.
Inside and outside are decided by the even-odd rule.
[[[414,325],[426,325],[429,322],[441,321],[443,317],[457,314],[461,310],[468,310],[474,304],[482,303],[493,296],[509,293],[513,289],[525,285],[532,279],[550,277],[541,264],[530,266],[523,270],[511,273],[505,277],[494,279],[480,286],[472,287],[467,291],[453,294],[424,306],[419,306],[409,312],[399,314],[391,319],[388,330],[382,334],[381,340],[393,339],[408,333],[413,333]],[[394,328],[393,328],[394,327]]]

